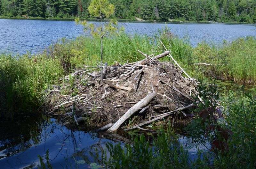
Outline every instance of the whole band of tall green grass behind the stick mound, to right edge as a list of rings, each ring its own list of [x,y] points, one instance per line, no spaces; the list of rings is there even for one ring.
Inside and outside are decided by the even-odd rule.
[[[148,36],[129,36],[120,34],[104,39],[104,61],[125,63],[142,60],[145,54],[159,54],[164,51],[161,39],[174,59],[191,76],[212,77],[220,80],[232,80],[237,83],[256,83],[256,39],[240,38],[221,46],[204,42],[192,48],[188,42],[181,40],[165,28],[154,38]],[[82,67],[84,64],[99,64],[100,40],[90,37],[78,37],[76,40],[63,39],[50,47],[49,55],[61,59],[64,67]],[[170,61],[165,57],[162,61]],[[211,63],[214,66],[194,65],[194,63]]]

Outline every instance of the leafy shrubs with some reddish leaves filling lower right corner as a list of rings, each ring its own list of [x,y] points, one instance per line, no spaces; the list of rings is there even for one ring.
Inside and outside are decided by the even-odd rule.
[[[205,104],[199,105],[195,118],[188,125],[189,136],[213,152],[215,168],[255,168],[255,97],[242,93],[237,97],[229,92],[222,97],[224,109],[221,112],[216,102],[211,101],[218,99],[215,85],[201,82],[198,90]]]

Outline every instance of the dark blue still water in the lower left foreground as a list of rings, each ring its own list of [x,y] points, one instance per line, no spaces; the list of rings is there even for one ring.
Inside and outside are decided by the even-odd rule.
[[[38,155],[44,157],[47,150],[53,168],[87,168],[99,163],[96,152],[103,151],[105,143],[115,143],[104,134],[67,129],[55,119],[36,119],[1,132],[1,168],[37,167]]]

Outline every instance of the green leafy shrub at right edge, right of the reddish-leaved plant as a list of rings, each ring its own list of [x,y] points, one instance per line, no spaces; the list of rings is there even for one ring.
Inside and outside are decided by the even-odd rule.
[[[222,98],[225,120],[233,132],[230,154],[222,163],[227,168],[255,168],[256,158],[256,98],[252,94],[229,92]],[[235,145],[235,146],[234,146]],[[233,164],[229,164],[232,161]]]

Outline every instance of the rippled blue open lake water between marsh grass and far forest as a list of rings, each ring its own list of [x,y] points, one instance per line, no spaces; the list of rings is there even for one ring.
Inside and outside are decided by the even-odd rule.
[[[129,34],[153,36],[165,25],[172,33],[196,46],[202,41],[222,43],[239,37],[256,36],[255,25],[119,22]],[[74,21],[0,19],[0,53],[25,54],[44,50],[60,38],[73,39],[83,34]],[[189,37],[189,38],[188,38]]]

